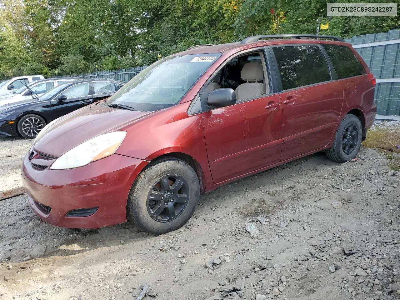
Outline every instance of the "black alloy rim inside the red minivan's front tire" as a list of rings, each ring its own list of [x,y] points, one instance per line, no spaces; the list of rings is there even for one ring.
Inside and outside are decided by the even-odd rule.
[[[185,209],[189,199],[189,187],[178,175],[162,177],[150,190],[147,210],[158,222],[170,222]]]

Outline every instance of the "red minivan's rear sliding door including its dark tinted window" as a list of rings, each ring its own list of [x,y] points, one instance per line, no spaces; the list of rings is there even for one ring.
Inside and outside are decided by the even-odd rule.
[[[283,109],[282,161],[328,146],[343,104],[317,44],[273,46]]]

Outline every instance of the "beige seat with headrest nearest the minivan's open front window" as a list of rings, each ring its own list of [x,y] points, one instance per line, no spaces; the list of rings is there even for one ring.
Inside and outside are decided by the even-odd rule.
[[[246,83],[240,84],[235,90],[236,100],[247,100],[265,94],[265,84],[260,82],[264,79],[264,70],[261,62],[248,62],[243,66],[240,77]]]

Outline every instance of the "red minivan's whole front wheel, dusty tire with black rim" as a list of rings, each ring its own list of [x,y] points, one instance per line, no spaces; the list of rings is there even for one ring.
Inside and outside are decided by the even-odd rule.
[[[136,179],[128,197],[128,216],[140,230],[164,234],[188,222],[199,196],[193,168],[177,158],[163,158]]]

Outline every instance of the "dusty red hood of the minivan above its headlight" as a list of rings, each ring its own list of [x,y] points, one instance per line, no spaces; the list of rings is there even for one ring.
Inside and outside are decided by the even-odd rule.
[[[86,106],[59,118],[36,140],[34,149],[60,157],[68,150],[95,136],[118,131],[152,113],[101,105]]]

